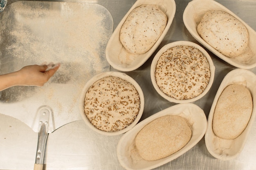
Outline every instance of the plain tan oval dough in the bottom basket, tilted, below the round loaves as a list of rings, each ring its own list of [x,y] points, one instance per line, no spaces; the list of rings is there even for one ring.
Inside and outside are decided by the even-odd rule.
[[[191,129],[184,118],[168,115],[144,126],[135,138],[135,145],[143,159],[154,161],[183,148],[191,135]]]

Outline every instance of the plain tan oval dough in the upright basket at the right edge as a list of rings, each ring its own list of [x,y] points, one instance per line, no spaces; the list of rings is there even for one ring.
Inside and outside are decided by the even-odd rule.
[[[252,115],[252,95],[242,84],[231,84],[221,93],[213,113],[212,128],[222,139],[235,139]]]

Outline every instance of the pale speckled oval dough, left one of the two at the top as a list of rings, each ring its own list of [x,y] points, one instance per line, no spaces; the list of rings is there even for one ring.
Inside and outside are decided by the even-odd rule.
[[[154,4],[143,4],[131,11],[120,30],[120,41],[132,54],[152,48],[167,24],[167,16]]]

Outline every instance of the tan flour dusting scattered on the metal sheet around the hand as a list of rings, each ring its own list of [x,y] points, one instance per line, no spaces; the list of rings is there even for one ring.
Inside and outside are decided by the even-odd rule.
[[[11,24],[3,28],[9,36],[4,51],[11,51],[13,71],[28,64],[60,62],[49,83],[83,86],[92,75],[109,69],[105,47],[112,30],[104,22],[107,16],[91,7],[96,4],[52,4],[13,6]]]

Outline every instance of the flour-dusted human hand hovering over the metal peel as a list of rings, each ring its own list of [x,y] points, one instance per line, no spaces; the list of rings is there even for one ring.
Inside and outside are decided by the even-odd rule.
[[[30,65],[21,68],[18,73],[18,85],[43,86],[58,70],[60,64],[49,69],[49,65]]]

